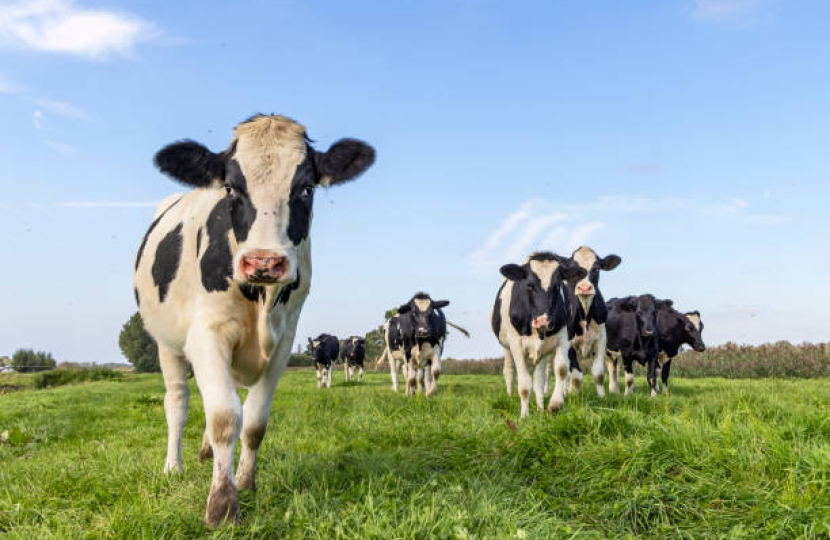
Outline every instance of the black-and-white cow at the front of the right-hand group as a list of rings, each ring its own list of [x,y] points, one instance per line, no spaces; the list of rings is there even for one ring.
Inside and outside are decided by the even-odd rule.
[[[548,412],[565,404],[568,375],[568,305],[564,280],[582,279],[588,273],[567,257],[550,252],[530,255],[524,264],[506,264],[500,269],[504,281],[493,306],[493,333],[504,349],[504,381],[513,393],[513,369],[519,375],[522,418],[529,414],[531,391],[536,405],[544,409],[547,364],[554,357],[556,384]],[[533,375],[528,371],[533,367]]]

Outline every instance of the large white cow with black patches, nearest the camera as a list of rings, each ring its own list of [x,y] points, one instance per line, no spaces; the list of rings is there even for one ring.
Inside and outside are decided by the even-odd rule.
[[[238,522],[238,489],[255,488],[257,452],[311,283],[314,192],[356,178],[374,159],[355,139],[318,152],[302,125],[276,115],[238,124],[218,153],[185,140],[155,155],[163,173],[195,189],[159,205],[138,249],[134,292],[164,376],[165,472],[182,469],[191,368],[204,400],[209,526]],[[237,386],[249,389],[244,406]]]

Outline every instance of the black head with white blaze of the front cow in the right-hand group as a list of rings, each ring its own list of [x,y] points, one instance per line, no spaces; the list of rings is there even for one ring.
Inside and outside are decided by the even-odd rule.
[[[534,253],[523,265],[505,264],[500,272],[513,282],[513,297],[521,297],[531,325],[542,333],[554,323],[562,281],[582,279],[587,274],[570,259],[548,252]]]

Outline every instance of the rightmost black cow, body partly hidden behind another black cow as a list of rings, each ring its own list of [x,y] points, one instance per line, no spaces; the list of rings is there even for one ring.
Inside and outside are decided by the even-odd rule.
[[[674,309],[671,300],[663,300],[657,308],[657,326],[660,329],[657,374],[663,381],[663,392],[668,394],[671,361],[677,356],[680,347],[689,345],[697,352],[706,350],[702,335],[703,321],[699,311],[681,313]],[[660,391],[660,380],[657,380],[656,390]]]

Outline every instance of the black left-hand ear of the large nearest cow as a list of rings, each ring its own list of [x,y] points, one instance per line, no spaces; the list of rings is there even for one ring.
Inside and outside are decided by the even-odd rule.
[[[214,154],[195,141],[168,144],[153,159],[161,172],[193,187],[208,187],[225,176],[222,154]]]

